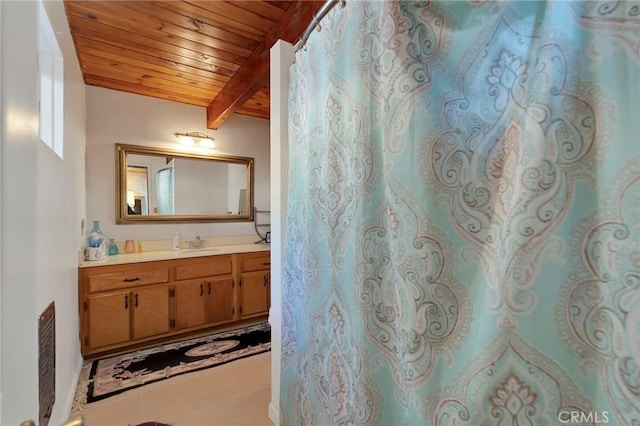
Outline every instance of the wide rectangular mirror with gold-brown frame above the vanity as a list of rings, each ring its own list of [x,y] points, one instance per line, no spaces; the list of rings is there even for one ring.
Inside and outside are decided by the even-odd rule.
[[[253,220],[254,159],[116,144],[116,223]]]

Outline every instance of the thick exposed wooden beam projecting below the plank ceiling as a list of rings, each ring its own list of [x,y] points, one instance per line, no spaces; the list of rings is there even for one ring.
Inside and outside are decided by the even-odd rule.
[[[269,52],[278,40],[297,42],[324,1],[297,1],[282,15],[207,107],[207,128],[218,129],[238,108],[269,82]]]

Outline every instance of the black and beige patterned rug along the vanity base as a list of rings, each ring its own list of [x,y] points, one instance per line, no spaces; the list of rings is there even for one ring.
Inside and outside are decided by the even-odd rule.
[[[74,408],[159,380],[269,351],[267,322],[85,362]]]

